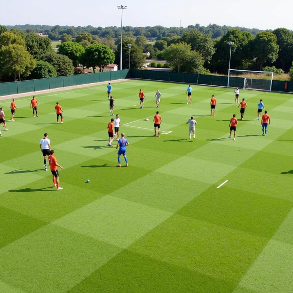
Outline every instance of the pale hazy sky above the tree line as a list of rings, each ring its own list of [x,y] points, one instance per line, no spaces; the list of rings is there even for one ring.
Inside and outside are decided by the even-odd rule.
[[[242,26],[293,30],[293,1],[290,0],[10,0],[1,5],[0,24],[47,24],[74,26],[123,25],[166,27],[188,25]]]

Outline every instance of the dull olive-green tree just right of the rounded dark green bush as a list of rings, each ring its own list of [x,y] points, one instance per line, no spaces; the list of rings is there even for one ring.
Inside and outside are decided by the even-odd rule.
[[[52,64],[53,67],[56,69],[58,76],[74,74],[72,60],[65,55],[52,52],[43,55],[41,59],[42,61],[46,61]]]

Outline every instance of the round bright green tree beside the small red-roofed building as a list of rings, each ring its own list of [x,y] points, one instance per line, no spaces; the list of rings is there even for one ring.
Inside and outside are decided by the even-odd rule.
[[[93,72],[95,72],[96,67],[99,67],[100,72],[102,72],[105,65],[113,63],[114,59],[115,55],[108,46],[92,44],[85,49],[82,61],[86,67],[92,67]]]

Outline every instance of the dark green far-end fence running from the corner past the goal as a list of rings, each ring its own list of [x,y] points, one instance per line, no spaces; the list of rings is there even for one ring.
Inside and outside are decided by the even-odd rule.
[[[208,86],[227,86],[228,76],[131,69],[131,78],[175,81]],[[244,78],[230,76],[229,86],[243,88]],[[293,82],[273,80],[272,91],[293,92]]]

